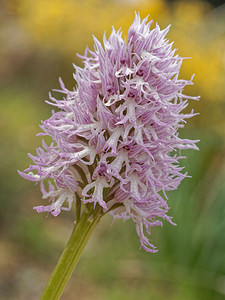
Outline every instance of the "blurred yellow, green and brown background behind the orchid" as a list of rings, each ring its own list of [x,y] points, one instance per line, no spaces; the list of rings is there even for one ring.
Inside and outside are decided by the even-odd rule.
[[[225,5],[223,1],[0,1],[0,299],[38,299],[69,234],[74,211],[37,214],[39,187],[17,174],[35,153],[39,124],[50,116],[44,100],[61,76],[72,88],[76,53],[102,40],[112,25],[124,35],[134,18],[150,15],[185,60],[181,78],[200,115],[181,136],[201,139],[186,151],[192,179],[169,193],[178,224],[152,230],[157,254],[139,250],[132,222],[106,216],[92,236],[62,299],[225,299]],[[154,25],[153,25],[154,26]]]

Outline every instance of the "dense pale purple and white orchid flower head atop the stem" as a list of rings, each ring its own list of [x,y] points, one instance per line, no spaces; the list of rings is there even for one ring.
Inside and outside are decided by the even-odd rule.
[[[75,67],[76,87],[69,91],[60,79],[62,100],[50,94],[59,110],[42,122],[43,142],[34,164],[20,174],[39,181],[47,206],[37,212],[57,216],[72,203],[94,203],[115,218],[136,223],[141,247],[157,251],[147,236],[152,226],[166,219],[166,191],[187,176],[179,166],[180,150],[198,149],[178,136],[188,99],[183,94],[191,80],[178,79],[183,58],[165,38],[169,27],[150,30],[152,21],[135,15],[127,39],[112,30],[103,44],[94,38],[94,51],[80,56]],[[49,181],[48,189],[44,181]]]

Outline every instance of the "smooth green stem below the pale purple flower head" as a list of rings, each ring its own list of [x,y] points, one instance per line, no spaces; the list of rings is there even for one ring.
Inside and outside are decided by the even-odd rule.
[[[80,220],[74,223],[70,239],[50,277],[40,300],[57,300],[60,298],[79,258],[102,217],[101,211],[95,214],[83,212]]]

